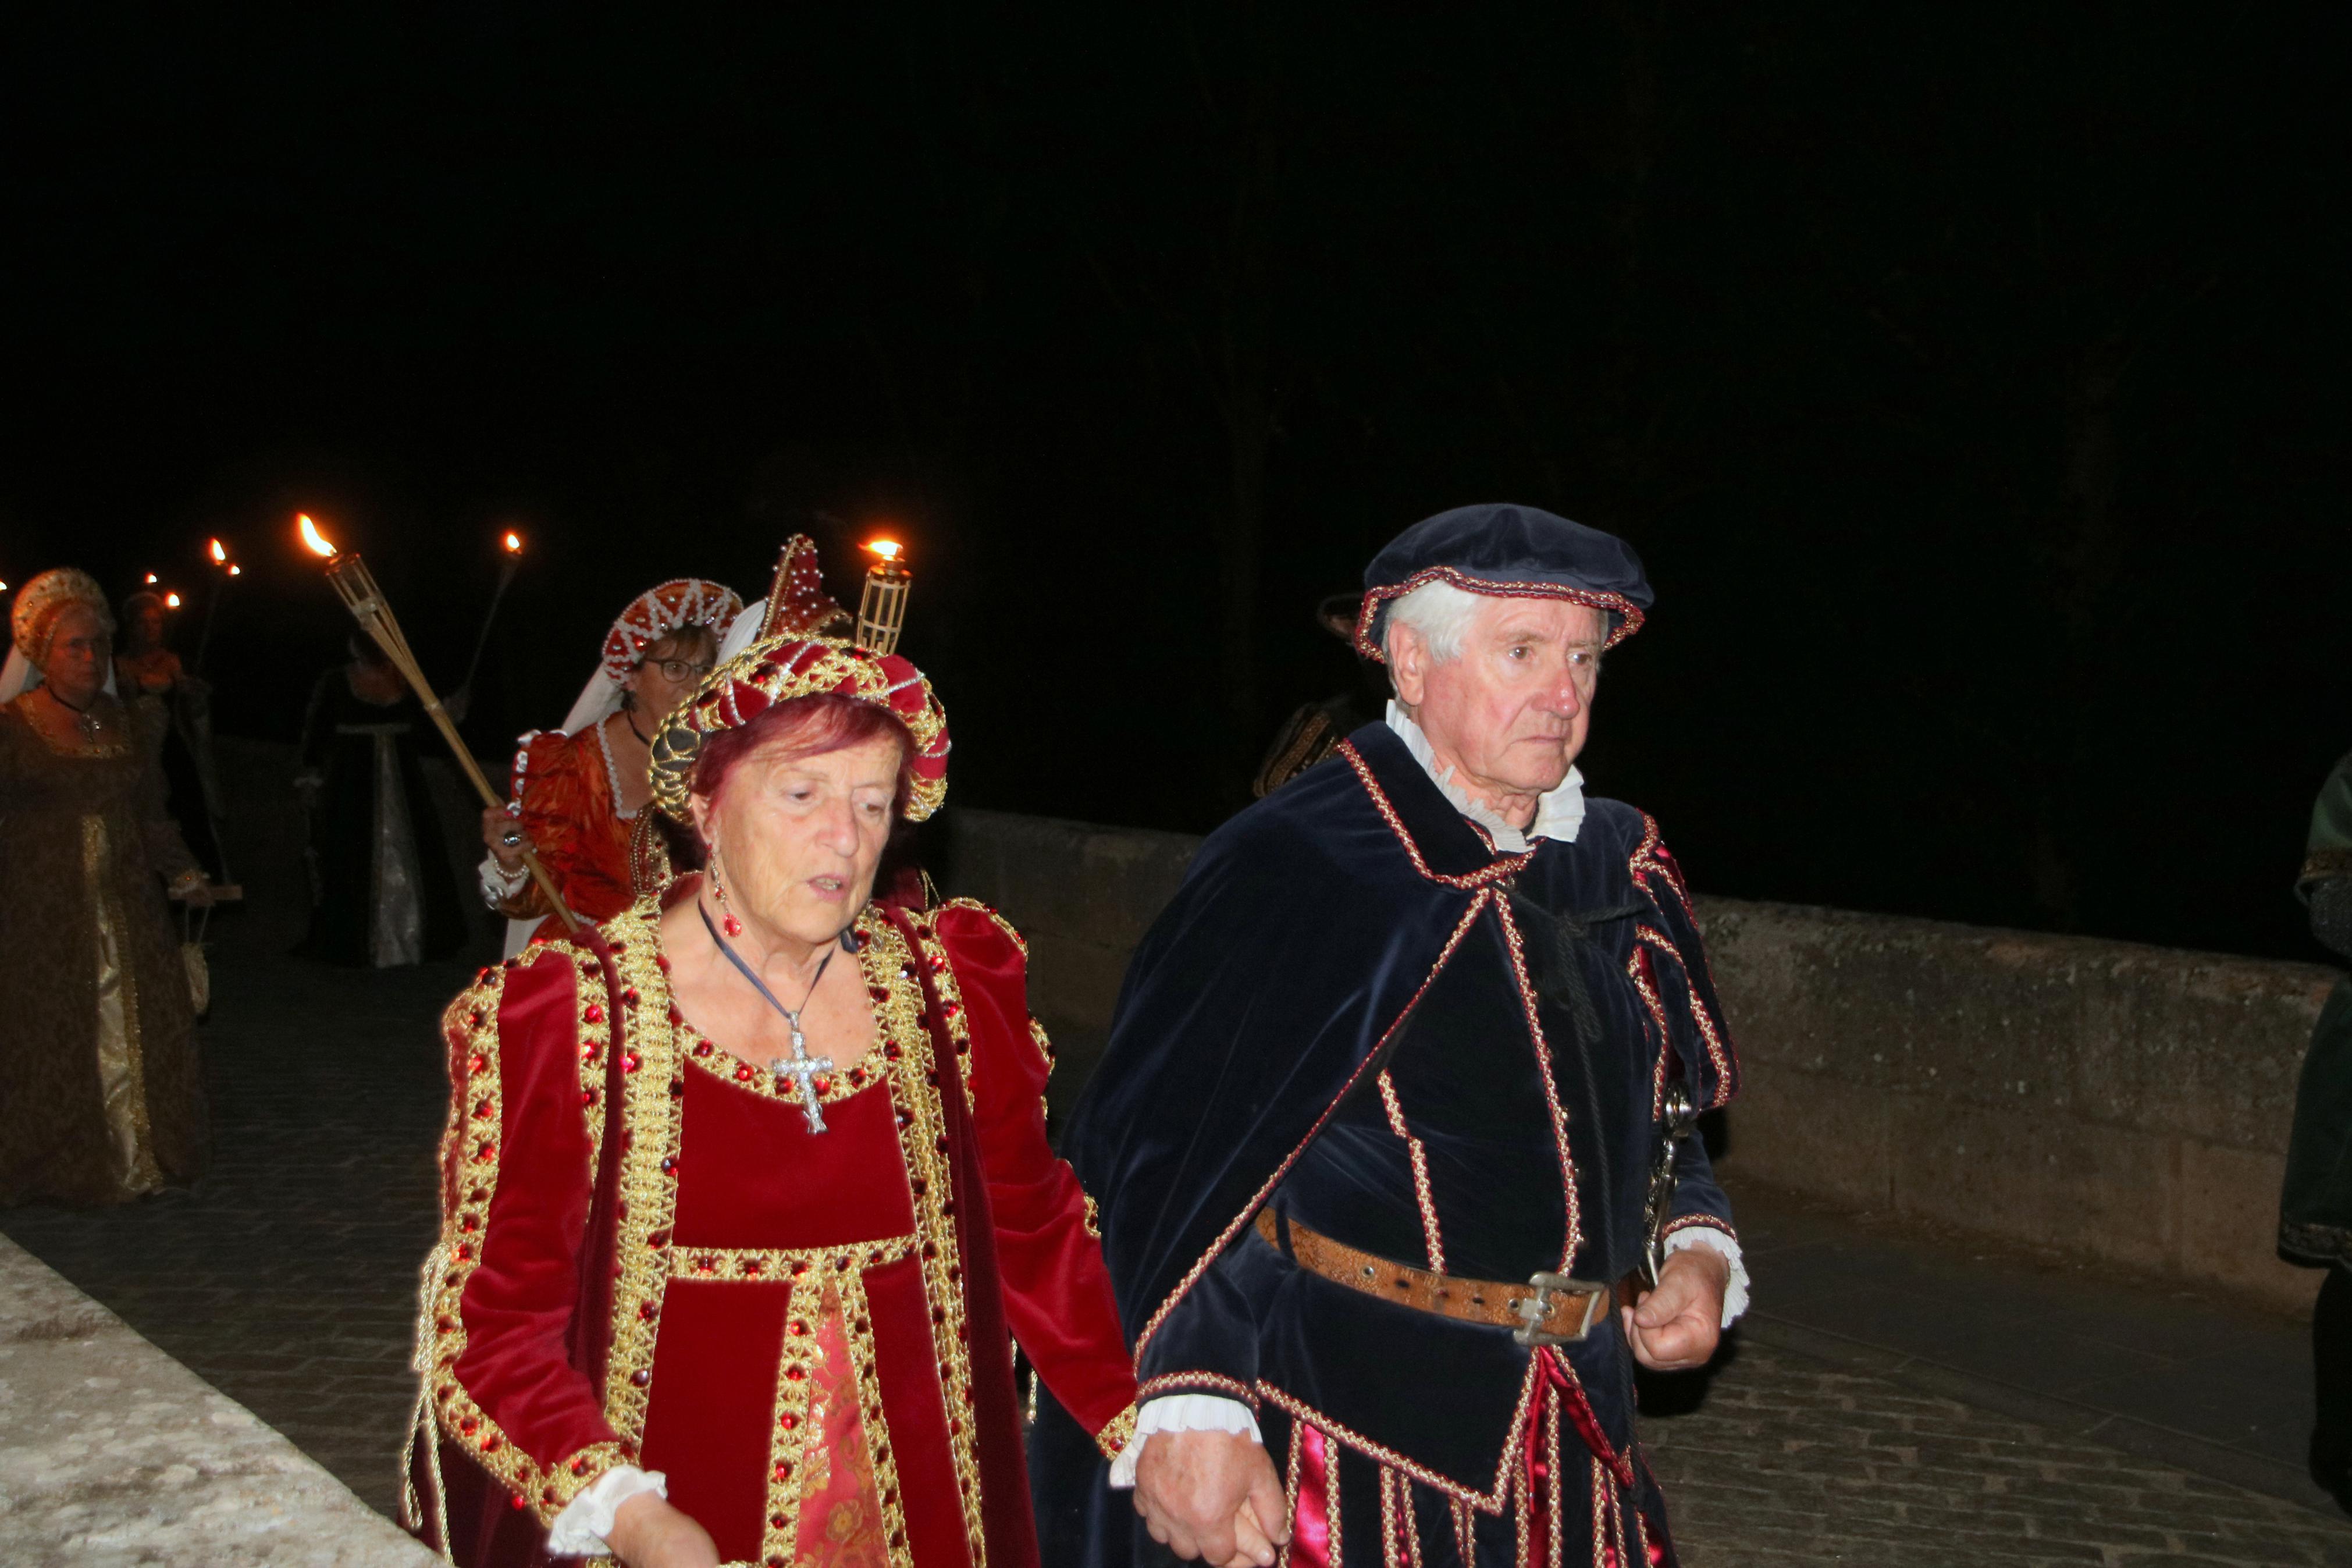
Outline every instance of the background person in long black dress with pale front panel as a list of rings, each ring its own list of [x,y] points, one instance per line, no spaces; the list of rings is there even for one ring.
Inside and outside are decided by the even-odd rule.
[[[296,952],[369,969],[440,959],[466,943],[466,907],[416,748],[430,719],[374,642],[353,637],[350,654],[318,677],[301,729],[313,900]]]

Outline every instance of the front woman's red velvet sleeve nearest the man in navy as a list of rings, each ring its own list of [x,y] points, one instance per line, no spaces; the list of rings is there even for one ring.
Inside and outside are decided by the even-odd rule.
[[[1028,1013],[1028,952],[993,910],[953,900],[934,917],[971,1032],[971,1119],[995,1218],[1004,1316],[1054,1399],[1117,1458],[1134,1432],[1136,1378],[1087,1194],[1044,1135],[1054,1070]]]

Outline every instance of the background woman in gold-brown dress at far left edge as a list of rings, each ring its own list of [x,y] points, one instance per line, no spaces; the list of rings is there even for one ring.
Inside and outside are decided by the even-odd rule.
[[[106,691],[99,585],[45,571],[9,630],[42,682],[0,705],[0,1204],[120,1204],[202,1164],[195,1013],[162,893],[212,893],[165,816],[162,710]]]

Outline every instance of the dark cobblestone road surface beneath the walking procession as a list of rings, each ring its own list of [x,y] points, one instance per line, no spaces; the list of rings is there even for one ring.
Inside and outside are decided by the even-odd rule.
[[[205,1180],[120,1211],[0,1211],[0,1232],[383,1512],[433,1239],[433,1020],[468,973],[216,957]],[[1743,1345],[1649,1439],[1693,1568],[2352,1568],[2352,1521],[1783,1347]]]

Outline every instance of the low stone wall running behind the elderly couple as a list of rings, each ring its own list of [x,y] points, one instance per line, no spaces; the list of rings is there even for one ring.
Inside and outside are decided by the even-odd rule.
[[[941,884],[1028,936],[1065,1107],[1200,839],[948,818]],[[2333,971],[1731,898],[1698,912],[1748,1070],[1726,1175],[2310,1302],[2319,1276],[2272,1234]]]

